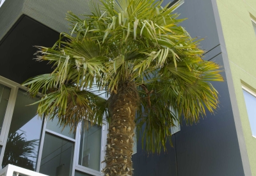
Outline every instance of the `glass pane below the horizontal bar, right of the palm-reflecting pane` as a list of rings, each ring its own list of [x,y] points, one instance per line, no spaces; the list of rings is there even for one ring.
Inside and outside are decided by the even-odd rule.
[[[45,132],[40,173],[51,176],[70,176],[74,143]]]

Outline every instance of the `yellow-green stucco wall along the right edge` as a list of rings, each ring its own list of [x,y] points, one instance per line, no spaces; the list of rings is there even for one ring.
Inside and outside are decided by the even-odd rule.
[[[256,138],[252,136],[242,90],[242,84],[256,90],[256,36],[250,16],[256,19],[256,1],[217,0],[217,4],[250,168],[256,176]]]

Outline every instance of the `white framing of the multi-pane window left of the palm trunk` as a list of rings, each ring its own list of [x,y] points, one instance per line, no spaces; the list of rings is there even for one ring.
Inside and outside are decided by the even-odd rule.
[[[10,81],[9,79],[6,79],[5,77],[0,76],[0,84],[3,84],[4,86],[8,87],[11,89],[10,92],[10,97],[8,100],[7,108],[6,108],[6,113],[4,115],[4,121],[3,121],[3,128],[0,134],[0,146],[2,147],[1,149],[1,155],[0,155],[0,166],[2,165],[3,162],[3,157],[4,157],[4,150],[6,147],[6,142],[8,139],[8,133],[10,130],[10,125],[12,122],[12,116],[13,116],[13,110],[16,102],[16,97],[18,90],[27,90],[26,87],[21,86],[19,83],[15,83],[14,81]],[[40,94],[38,94],[40,96]],[[51,123],[51,122],[48,122]],[[65,140],[71,141],[74,143],[74,151],[73,151],[73,161],[72,161],[72,171],[71,175],[75,175],[75,171],[77,170],[78,172],[86,173],[89,175],[93,176],[102,176],[103,173],[101,170],[106,166],[106,163],[100,163],[100,172],[96,170],[92,170],[90,168],[86,168],[84,166],[81,166],[78,164],[78,159],[79,159],[79,147],[80,147],[80,139],[81,139],[81,123],[77,127],[77,132],[75,134],[75,138],[70,138],[68,136],[65,136],[63,134],[60,134],[58,132],[51,131],[46,128],[47,125],[47,120],[44,120],[43,126],[42,126],[42,133],[41,133],[41,139],[40,139],[40,146],[38,150],[38,158],[36,161],[36,172],[39,172],[40,170],[40,163],[42,159],[42,151],[44,147],[44,138],[45,138],[45,132],[49,134],[53,134],[54,136],[58,136],[60,138],[63,138]],[[107,133],[108,133],[108,122],[104,120],[102,122],[102,136],[101,136],[101,151],[100,151],[100,162],[104,161],[104,156],[106,154],[106,140],[107,140]]]

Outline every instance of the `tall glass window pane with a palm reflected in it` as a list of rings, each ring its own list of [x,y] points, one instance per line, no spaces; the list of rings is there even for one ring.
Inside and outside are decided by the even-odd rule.
[[[18,91],[4,151],[3,168],[13,164],[29,170],[36,169],[42,120],[36,115],[36,105],[26,105],[37,100],[22,90]]]

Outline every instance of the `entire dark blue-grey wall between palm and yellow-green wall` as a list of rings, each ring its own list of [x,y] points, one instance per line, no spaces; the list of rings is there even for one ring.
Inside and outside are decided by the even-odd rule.
[[[192,37],[205,38],[200,44],[206,52],[204,60],[216,61],[223,65],[211,0],[185,0],[175,12],[180,13],[180,19],[188,18],[181,26],[186,28]],[[222,74],[225,79],[225,72]],[[244,175],[227,81],[225,79],[223,83],[213,84],[220,93],[220,107],[215,115],[208,112],[207,117],[196,125],[187,126],[182,122],[181,131],[175,134],[175,141],[173,140],[175,148],[168,147],[168,151],[176,152],[177,160],[172,152],[168,152],[170,157],[161,157],[164,154],[147,157],[147,154],[139,151],[133,157],[135,176]],[[165,169],[168,166],[172,167],[172,172],[161,172],[159,170],[161,166],[158,164],[160,162],[164,163]],[[175,163],[177,163],[177,172],[175,172]],[[164,167],[161,169],[164,170]]]

